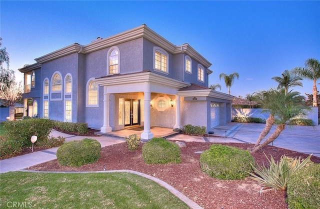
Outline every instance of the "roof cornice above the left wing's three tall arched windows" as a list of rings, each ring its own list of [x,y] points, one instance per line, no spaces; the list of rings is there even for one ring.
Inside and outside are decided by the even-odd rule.
[[[80,52],[81,47],[82,46],[80,44],[73,43],[71,45],[65,46],[65,47],[60,48],[60,49],[53,51],[51,53],[48,53],[48,54],[45,54],[45,55],[40,56],[38,58],[35,58],[34,60],[36,62],[42,64],[44,62],[47,62],[47,61],[71,54],[71,53]]]

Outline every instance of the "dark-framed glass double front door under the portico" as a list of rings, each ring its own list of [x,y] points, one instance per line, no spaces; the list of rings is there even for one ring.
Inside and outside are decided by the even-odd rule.
[[[124,99],[124,126],[140,124],[140,100]]]

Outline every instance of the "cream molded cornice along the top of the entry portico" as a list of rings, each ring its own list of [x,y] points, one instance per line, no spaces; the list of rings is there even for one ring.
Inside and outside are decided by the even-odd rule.
[[[190,83],[176,80],[170,77],[166,77],[153,72],[141,72],[141,73],[131,73],[123,74],[117,76],[105,76],[95,78],[94,81],[101,86],[112,86],[119,85],[119,83],[143,83],[151,82],[161,85],[166,85],[175,88],[182,88],[190,85]]]

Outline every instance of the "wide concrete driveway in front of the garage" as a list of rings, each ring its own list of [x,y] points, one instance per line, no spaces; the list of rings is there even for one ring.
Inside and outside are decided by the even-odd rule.
[[[260,123],[229,122],[226,125],[215,127],[213,131],[214,135],[226,136],[238,142],[255,143],[264,125],[265,124]],[[267,136],[269,136],[274,129],[275,125],[272,126]],[[213,142],[214,138],[210,138],[210,141]],[[273,141],[273,145],[302,153],[312,153],[320,157],[320,125],[287,125]]]

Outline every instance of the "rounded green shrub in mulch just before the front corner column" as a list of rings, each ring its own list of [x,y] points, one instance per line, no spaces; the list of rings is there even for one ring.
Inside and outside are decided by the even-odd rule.
[[[152,138],[142,146],[142,158],[146,164],[179,163],[180,147],[164,138]]]

